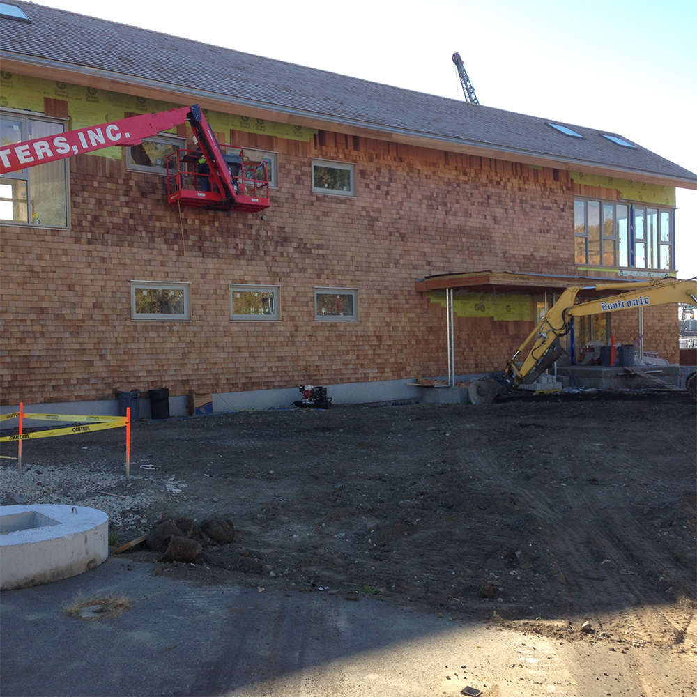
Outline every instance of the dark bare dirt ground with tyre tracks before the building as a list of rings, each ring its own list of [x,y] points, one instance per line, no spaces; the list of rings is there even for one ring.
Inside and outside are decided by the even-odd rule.
[[[118,544],[174,516],[233,522],[156,573],[368,593],[694,670],[695,417],[666,393],[238,412],[134,424],[128,480],[123,429],[25,441],[24,467],[65,475],[31,503],[119,506]],[[78,490],[81,470],[115,476]],[[686,675],[674,694],[697,693]]]

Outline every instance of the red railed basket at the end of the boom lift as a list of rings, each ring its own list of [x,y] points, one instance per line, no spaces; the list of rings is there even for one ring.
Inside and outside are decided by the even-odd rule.
[[[226,148],[228,146],[225,146]],[[167,156],[167,201],[183,208],[240,210],[254,213],[270,206],[266,162],[245,160],[243,148],[223,155],[234,196],[224,191],[222,178],[211,171],[200,150],[176,150]]]

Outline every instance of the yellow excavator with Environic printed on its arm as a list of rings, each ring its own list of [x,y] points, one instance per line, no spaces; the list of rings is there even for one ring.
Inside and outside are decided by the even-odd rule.
[[[622,292],[592,300],[578,300],[581,291]],[[697,279],[681,280],[661,278],[654,281],[608,282],[594,286],[571,286],[545,314],[528,338],[508,361],[503,373],[492,373],[489,378],[470,383],[469,395],[473,404],[491,404],[497,397],[510,393],[513,388],[533,383],[539,375],[549,369],[565,351],[560,346],[560,337],[569,333],[573,317],[588,316],[603,312],[618,312],[669,302],[687,302],[697,305]],[[528,350],[521,363],[516,359]],[[697,372],[686,381],[687,390],[696,397]]]

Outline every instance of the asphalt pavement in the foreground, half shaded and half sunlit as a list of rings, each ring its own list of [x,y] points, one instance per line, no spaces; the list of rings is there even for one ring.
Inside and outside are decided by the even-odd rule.
[[[667,695],[680,694],[668,676],[691,674],[675,654],[624,656],[378,597],[198,585],[156,569],[110,556],[72,579],[3,591],[0,694],[456,697],[470,686],[483,697]],[[65,607],[79,593],[132,606],[71,617]],[[648,673],[665,676],[666,691],[650,689]]]

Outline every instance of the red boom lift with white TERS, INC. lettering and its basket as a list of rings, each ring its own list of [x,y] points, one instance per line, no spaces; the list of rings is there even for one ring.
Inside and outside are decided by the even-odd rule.
[[[177,150],[167,158],[168,203],[250,213],[268,208],[266,162],[245,162],[242,148],[223,153],[199,105],[131,116],[3,147],[0,174],[115,145],[138,145],[144,138],[187,121],[194,130],[198,149]]]

